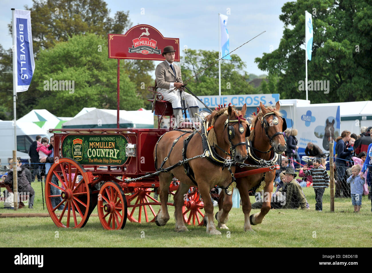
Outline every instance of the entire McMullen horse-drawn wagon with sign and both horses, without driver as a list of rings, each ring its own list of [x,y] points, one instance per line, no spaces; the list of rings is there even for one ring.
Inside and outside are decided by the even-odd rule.
[[[135,26],[125,35],[108,35],[109,58],[118,59],[118,129],[49,130],[54,133],[54,164],[47,175],[45,199],[53,222],[58,227],[84,227],[97,206],[99,220],[105,229],[122,229],[127,218],[131,222],[154,221],[157,225],[165,225],[169,220],[167,205],[173,205],[167,199],[170,193],[177,200],[176,230],[187,230],[184,223],[203,225],[202,209],[205,206],[207,232],[219,234],[213,223],[209,190],[218,184],[226,191],[225,198],[219,202],[220,211],[216,218],[220,228],[227,228],[225,223],[231,208],[231,189],[235,184],[233,180],[236,169],[236,186],[242,194],[245,214],[244,230],[250,230],[250,222],[262,222],[268,211],[267,206],[270,207],[270,200],[264,202],[262,213],[249,218],[248,190],[272,192],[273,174],[279,167],[275,165],[278,158],[275,154],[280,154],[285,149],[282,131],[286,126],[284,119],[278,119],[279,102],[276,108],[265,108],[261,104],[261,110],[257,111],[251,129],[244,118],[246,105],[242,111],[229,105],[226,108],[220,107],[205,119],[201,118],[200,132],[195,128],[170,132],[173,128],[160,128],[160,122],[163,116],[173,116],[172,106],[162,100],[161,94],[153,88],[150,91],[154,92],[152,103],[153,112],[158,116],[158,128],[119,129],[119,59],[146,59],[138,54],[147,55],[150,51],[160,54],[157,41],[158,46],[162,46],[159,41],[166,45],[173,42],[179,52],[179,40],[164,38],[162,35],[151,38],[149,45],[154,48],[144,46],[144,40],[150,38],[141,37],[144,34],[141,34],[142,29],[147,29],[146,33],[149,35],[148,29],[151,29],[151,33],[161,35],[148,25]],[[135,34],[136,31],[139,32]],[[140,38],[135,38],[138,35],[141,41]],[[134,43],[129,47],[129,53],[122,50],[125,47],[123,41],[126,40]],[[157,58],[147,59],[160,60]],[[179,55],[177,58],[179,60]],[[211,126],[208,126],[208,122]],[[211,139],[215,143],[209,139],[212,131],[214,137]],[[250,139],[247,139],[250,134]],[[189,142],[192,148],[189,146],[186,152]],[[171,154],[173,147],[177,152]],[[157,166],[154,164],[154,157]],[[203,168],[204,166],[209,167]],[[211,173],[206,171],[207,168]],[[168,173],[170,170],[172,171]],[[176,176],[175,173],[182,180],[181,184],[173,177]],[[268,175],[265,177],[266,173]],[[206,180],[209,180],[209,184],[205,183]],[[205,198],[204,202],[198,187]],[[162,203],[152,193],[160,193]],[[223,209],[222,202],[226,203]],[[183,221],[179,217],[181,213]]]

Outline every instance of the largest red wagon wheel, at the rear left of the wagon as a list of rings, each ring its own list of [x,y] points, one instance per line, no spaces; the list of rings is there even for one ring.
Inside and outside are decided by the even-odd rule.
[[[83,178],[79,181],[78,176]],[[61,186],[57,186],[52,180],[57,183],[59,181]],[[49,215],[57,227],[84,227],[91,212],[90,194],[88,175],[77,161],[60,158],[49,169],[45,185],[45,202]],[[58,203],[55,207],[52,205],[52,198],[53,203]]]

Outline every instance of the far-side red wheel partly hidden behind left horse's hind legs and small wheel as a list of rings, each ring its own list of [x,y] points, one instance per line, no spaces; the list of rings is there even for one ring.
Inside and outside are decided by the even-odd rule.
[[[126,195],[128,202],[128,219],[131,222],[143,223],[154,222],[157,211],[154,205],[161,205],[161,202],[150,196],[151,188],[136,188],[132,195]]]

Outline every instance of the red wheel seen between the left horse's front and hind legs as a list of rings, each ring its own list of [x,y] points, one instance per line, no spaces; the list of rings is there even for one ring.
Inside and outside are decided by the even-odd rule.
[[[187,193],[187,199],[185,201],[185,206],[182,207],[183,220],[189,225],[199,225],[204,224],[202,209],[204,208],[203,200],[200,197],[198,188],[191,187],[190,192]]]

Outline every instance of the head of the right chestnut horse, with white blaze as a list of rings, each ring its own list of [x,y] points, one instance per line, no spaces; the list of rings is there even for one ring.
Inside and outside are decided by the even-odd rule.
[[[287,123],[282,115],[280,115],[280,104],[276,103],[275,107],[268,106],[267,108],[260,103],[260,112],[253,121],[254,131],[251,134],[250,140],[253,140],[254,135],[262,138],[270,143],[274,152],[282,154],[286,149],[286,143],[283,131],[287,129]]]

